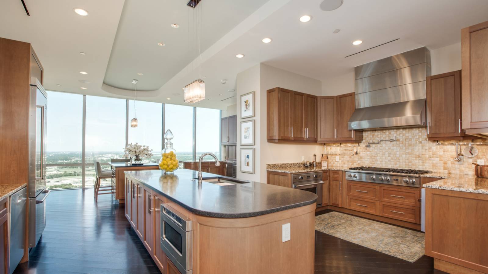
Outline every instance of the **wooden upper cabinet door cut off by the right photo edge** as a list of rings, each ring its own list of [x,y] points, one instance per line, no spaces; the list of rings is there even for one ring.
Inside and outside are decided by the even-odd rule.
[[[461,30],[463,128],[488,128],[488,21]]]

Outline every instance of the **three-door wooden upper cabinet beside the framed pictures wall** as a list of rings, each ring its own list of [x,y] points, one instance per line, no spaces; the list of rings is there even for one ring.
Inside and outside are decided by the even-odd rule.
[[[284,88],[267,90],[268,142],[317,141],[317,97]]]

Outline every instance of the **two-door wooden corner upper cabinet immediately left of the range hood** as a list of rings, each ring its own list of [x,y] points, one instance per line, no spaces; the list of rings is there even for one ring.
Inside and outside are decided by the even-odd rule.
[[[319,142],[361,142],[363,132],[349,130],[347,122],[356,105],[355,94],[318,97],[318,141]]]

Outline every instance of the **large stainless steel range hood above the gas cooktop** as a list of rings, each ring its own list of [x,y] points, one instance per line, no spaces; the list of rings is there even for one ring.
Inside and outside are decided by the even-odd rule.
[[[349,129],[422,127],[430,52],[421,47],[355,67],[356,110]]]

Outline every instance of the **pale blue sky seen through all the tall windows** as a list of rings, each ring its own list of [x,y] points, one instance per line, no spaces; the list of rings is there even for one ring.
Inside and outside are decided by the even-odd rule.
[[[86,151],[123,151],[125,146],[125,99],[86,96]],[[81,151],[83,96],[48,92],[47,151]],[[129,100],[129,123],[136,116],[138,127],[129,126],[129,143],[162,150],[162,104]],[[165,130],[174,135],[176,151],[191,152],[193,107],[165,104]],[[197,152],[220,148],[220,111],[196,108]]]

